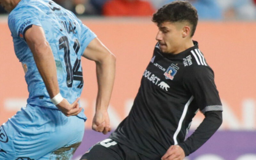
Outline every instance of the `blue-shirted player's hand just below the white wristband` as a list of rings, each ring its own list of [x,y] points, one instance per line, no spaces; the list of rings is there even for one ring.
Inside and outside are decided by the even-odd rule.
[[[68,102],[65,98],[57,104],[57,108],[60,109],[60,111],[66,115],[66,116],[76,116],[78,115],[81,111],[82,108],[79,107],[79,98],[77,98],[72,104]]]

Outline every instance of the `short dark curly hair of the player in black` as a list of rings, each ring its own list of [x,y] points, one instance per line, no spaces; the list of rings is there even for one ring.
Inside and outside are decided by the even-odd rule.
[[[197,10],[188,1],[174,1],[160,8],[152,18],[157,25],[163,22],[182,22],[187,21],[192,25],[191,37],[194,36],[198,21]]]

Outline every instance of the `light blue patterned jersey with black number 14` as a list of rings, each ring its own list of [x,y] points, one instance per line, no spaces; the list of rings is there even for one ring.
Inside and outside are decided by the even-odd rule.
[[[70,11],[51,0],[21,0],[8,17],[16,56],[22,62],[28,84],[28,104],[56,108],[51,102],[24,33],[32,25],[41,26],[54,55],[61,95],[69,103],[83,89],[81,56],[96,35]],[[79,115],[85,118],[83,112]]]

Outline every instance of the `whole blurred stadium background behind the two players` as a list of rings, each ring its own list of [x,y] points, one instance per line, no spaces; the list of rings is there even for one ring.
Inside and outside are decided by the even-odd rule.
[[[172,0],[56,0],[75,12],[117,58],[116,81],[109,106],[115,129],[128,115],[156,44],[156,25],[151,15]],[[190,0],[199,23],[194,40],[215,72],[223,103],[220,129],[186,160],[256,160],[256,0]],[[0,124],[26,106],[27,85],[15,56],[7,25],[8,14],[0,8]],[[91,130],[97,94],[95,65],[82,60],[84,90],[81,106],[88,120],[84,139],[73,160],[94,143],[108,137]],[[193,119],[190,133],[204,116]]]

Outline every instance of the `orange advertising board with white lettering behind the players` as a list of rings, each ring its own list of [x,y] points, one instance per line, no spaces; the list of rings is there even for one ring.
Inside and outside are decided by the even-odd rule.
[[[109,106],[115,128],[128,115],[151,60],[158,31],[150,19],[84,19],[84,24],[116,55],[116,80]],[[256,22],[199,22],[194,40],[215,73],[223,102],[222,129],[256,128]],[[28,98],[21,63],[15,56],[7,19],[0,22],[0,124],[12,117]],[[95,63],[82,60],[84,90],[81,106],[91,127],[97,95]],[[198,114],[195,128],[203,119]]]

